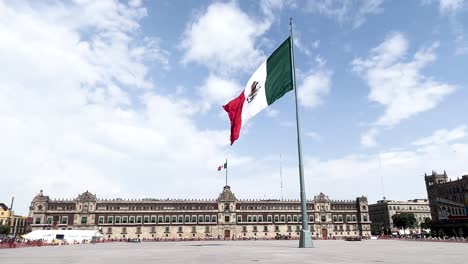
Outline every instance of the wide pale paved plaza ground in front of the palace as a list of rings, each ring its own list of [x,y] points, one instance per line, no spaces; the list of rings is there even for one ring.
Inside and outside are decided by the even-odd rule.
[[[0,250],[5,264],[467,263],[468,243],[418,241],[191,241],[104,243]]]

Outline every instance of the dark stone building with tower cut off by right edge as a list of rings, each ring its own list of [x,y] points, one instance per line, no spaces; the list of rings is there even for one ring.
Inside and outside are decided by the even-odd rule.
[[[431,231],[438,236],[468,236],[468,175],[452,181],[447,173],[425,174]]]

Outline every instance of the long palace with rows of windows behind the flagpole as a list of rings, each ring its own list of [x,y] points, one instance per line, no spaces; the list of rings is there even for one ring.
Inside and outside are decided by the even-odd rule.
[[[314,238],[370,236],[367,198],[334,201],[320,193],[307,202]],[[298,200],[238,200],[225,186],[216,200],[50,199],[30,206],[32,229],[99,229],[105,238],[203,239],[299,237]]]

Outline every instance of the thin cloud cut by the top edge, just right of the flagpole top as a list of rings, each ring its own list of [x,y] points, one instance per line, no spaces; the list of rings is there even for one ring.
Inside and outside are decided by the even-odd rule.
[[[336,19],[341,25],[351,23],[353,28],[362,26],[369,15],[383,11],[384,0],[311,0],[306,10]]]

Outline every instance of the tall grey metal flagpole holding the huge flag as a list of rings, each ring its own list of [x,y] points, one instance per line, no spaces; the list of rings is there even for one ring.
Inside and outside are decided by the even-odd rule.
[[[292,17],[289,20],[290,34],[291,34],[291,67],[292,67],[292,82],[294,89],[294,98],[296,104],[296,128],[297,128],[297,153],[299,156],[299,183],[301,188],[301,212],[302,212],[302,230],[299,239],[300,248],[311,248],[314,247],[312,243],[312,236],[310,235],[309,224],[307,219],[307,200],[304,187],[304,168],[302,165],[302,147],[301,147],[301,128],[299,126],[299,110],[297,107],[297,89],[296,89],[296,69],[294,65],[294,41],[293,41],[293,30],[292,30]]]

